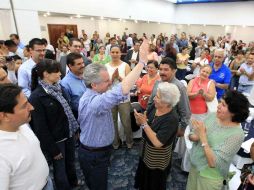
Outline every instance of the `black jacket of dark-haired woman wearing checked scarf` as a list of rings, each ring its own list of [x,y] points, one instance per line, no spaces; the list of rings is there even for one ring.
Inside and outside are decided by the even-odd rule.
[[[56,142],[69,138],[69,122],[57,99],[38,85],[29,97],[34,107],[31,128],[41,142],[41,149],[49,156],[60,154]]]

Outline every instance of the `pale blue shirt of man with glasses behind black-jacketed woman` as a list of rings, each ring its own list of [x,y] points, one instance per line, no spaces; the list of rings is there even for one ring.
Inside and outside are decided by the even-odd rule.
[[[29,98],[31,94],[31,75],[35,65],[36,63],[34,60],[30,58],[21,64],[18,70],[18,85],[22,87],[22,91],[27,98]]]

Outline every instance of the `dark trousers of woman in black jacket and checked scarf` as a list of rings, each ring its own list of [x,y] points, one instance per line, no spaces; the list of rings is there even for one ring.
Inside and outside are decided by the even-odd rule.
[[[75,144],[71,137],[65,141],[57,143],[63,158],[53,159],[54,180],[58,190],[70,190],[78,183],[75,168]]]

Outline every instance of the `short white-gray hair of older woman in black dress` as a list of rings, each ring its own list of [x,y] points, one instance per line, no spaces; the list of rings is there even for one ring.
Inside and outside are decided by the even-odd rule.
[[[168,82],[161,82],[158,85],[158,92],[161,96],[161,101],[168,104],[170,107],[175,107],[175,105],[180,100],[180,91],[175,84]]]

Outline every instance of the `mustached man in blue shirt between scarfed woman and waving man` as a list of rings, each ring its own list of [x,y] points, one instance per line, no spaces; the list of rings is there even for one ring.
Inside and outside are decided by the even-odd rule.
[[[71,104],[73,114],[77,118],[79,99],[86,90],[86,85],[83,80],[85,64],[82,55],[79,53],[70,53],[67,55],[67,65],[70,70],[61,81],[61,86]]]

